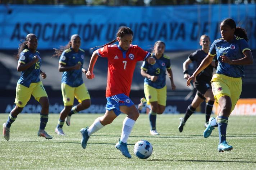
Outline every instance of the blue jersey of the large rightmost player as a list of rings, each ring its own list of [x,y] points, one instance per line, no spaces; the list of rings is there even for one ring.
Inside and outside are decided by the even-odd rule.
[[[223,38],[215,40],[210,48],[209,55],[214,56],[217,54],[219,61],[216,69],[217,74],[224,74],[229,77],[244,77],[243,65],[230,65],[223,63],[220,56],[225,55],[231,60],[237,60],[244,57],[243,52],[251,50],[246,40],[239,37],[234,37],[232,42],[227,42]]]

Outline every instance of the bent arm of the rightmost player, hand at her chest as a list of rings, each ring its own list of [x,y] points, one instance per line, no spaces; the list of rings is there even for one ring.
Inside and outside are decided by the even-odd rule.
[[[238,60],[230,60],[227,56],[220,56],[223,63],[228,63],[230,65],[250,65],[253,64],[253,57],[251,50],[245,50],[243,52],[244,57]]]

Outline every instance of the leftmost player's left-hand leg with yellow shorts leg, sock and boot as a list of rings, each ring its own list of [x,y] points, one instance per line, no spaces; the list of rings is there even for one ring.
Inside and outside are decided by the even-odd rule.
[[[25,87],[21,84],[16,86],[16,97],[15,104],[16,106],[10,112],[8,120],[3,124],[3,135],[5,140],[9,141],[10,139],[10,127],[12,123],[16,120],[17,115],[22,112],[23,107],[27,105],[31,97],[32,90],[29,87]]]

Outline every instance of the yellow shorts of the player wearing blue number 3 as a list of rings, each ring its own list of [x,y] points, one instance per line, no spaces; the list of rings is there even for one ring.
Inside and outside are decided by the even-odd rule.
[[[166,106],[166,86],[157,89],[144,83],[144,93],[148,105],[150,104],[150,102],[157,102],[159,105]]]

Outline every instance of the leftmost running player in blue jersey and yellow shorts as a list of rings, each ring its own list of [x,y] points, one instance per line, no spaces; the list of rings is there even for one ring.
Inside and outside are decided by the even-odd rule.
[[[21,72],[19,81],[16,87],[16,106],[11,111],[8,120],[3,124],[4,138],[9,141],[10,139],[10,126],[17,118],[17,115],[23,110],[23,107],[27,105],[31,95],[41,104],[42,109],[40,113],[40,128],[37,132],[38,136],[45,137],[46,139],[52,139],[52,137],[45,131],[45,126],[48,121],[49,112],[49,100],[45,91],[45,88],[40,81],[40,74],[43,79],[46,78],[46,74],[41,71],[42,60],[40,53],[36,51],[37,37],[35,34],[28,34],[26,41],[20,44],[18,49],[17,58],[18,72]]]

